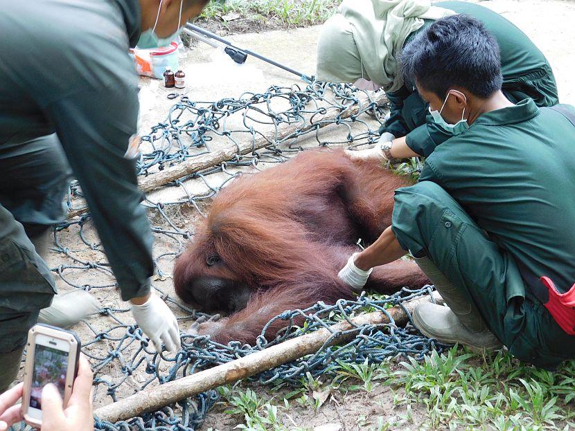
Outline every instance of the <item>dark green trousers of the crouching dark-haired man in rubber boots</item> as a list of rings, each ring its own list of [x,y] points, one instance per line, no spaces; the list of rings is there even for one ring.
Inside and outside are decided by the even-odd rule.
[[[545,369],[575,358],[575,337],[526,291],[513,257],[441,186],[422,181],[396,190],[392,230],[404,250],[430,257],[477,305],[511,354]]]

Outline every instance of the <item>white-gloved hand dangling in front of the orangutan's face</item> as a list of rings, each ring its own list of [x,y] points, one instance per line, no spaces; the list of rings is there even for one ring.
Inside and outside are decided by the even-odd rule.
[[[182,347],[176,317],[166,302],[155,293],[152,292],[144,304],[132,304],[132,315],[145,335],[150,337],[157,351],[161,351],[162,341],[169,351],[177,351]]]

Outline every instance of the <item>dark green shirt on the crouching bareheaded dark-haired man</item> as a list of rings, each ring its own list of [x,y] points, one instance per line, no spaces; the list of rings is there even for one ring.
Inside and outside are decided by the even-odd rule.
[[[420,181],[441,185],[515,262],[567,291],[575,283],[574,178],[574,125],[526,99],[439,145]]]

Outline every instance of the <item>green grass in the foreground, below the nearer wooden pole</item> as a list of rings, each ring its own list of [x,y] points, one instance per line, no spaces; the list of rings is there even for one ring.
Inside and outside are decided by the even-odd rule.
[[[350,392],[369,394],[376,387],[391,392],[403,413],[384,419],[358,412],[361,430],[575,430],[575,361],[552,373],[502,352],[481,356],[454,347],[421,362],[338,363],[335,374],[307,374],[291,392],[278,387],[272,389],[276,398],[242,384],[220,388],[220,394],[226,412],[241,416],[238,428],[244,430],[310,430],[292,420],[290,409],[317,412],[336,392],[345,399]]]

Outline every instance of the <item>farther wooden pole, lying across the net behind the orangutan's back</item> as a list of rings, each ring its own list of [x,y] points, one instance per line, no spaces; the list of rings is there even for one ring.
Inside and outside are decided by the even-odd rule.
[[[388,101],[387,96],[383,91],[378,91],[373,95],[373,98],[369,98],[366,93],[360,93],[357,96],[358,102],[353,104],[348,109],[342,112],[337,112],[340,118],[350,118],[357,115],[361,109],[364,109],[371,102],[377,104],[384,104]],[[278,133],[271,131],[263,136],[258,136],[254,141],[245,140],[245,142],[240,142],[238,145],[225,145],[217,149],[213,149],[207,154],[202,154],[201,156],[188,158],[186,161],[178,163],[168,169],[163,169],[162,171],[154,172],[149,176],[141,177],[139,180],[140,190],[143,192],[151,192],[163,185],[166,185],[172,181],[193,174],[195,172],[200,172],[209,167],[220,165],[221,163],[231,161],[237,154],[248,154],[254,149],[262,149],[270,145],[270,142],[274,140],[283,140],[293,136],[294,134],[300,132],[306,132],[310,129],[321,128],[329,125],[328,120],[333,120],[335,118],[335,112],[333,109],[328,109],[324,114],[317,114],[313,117],[313,123],[307,122],[305,125],[301,123],[296,123],[292,125],[287,125],[278,129]],[[78,199],[75,201],[76,205],[80,205],[79,208],[70,210],[68,212],[68,218],[78,216],[88,211],[87,203],[83,199]]]

